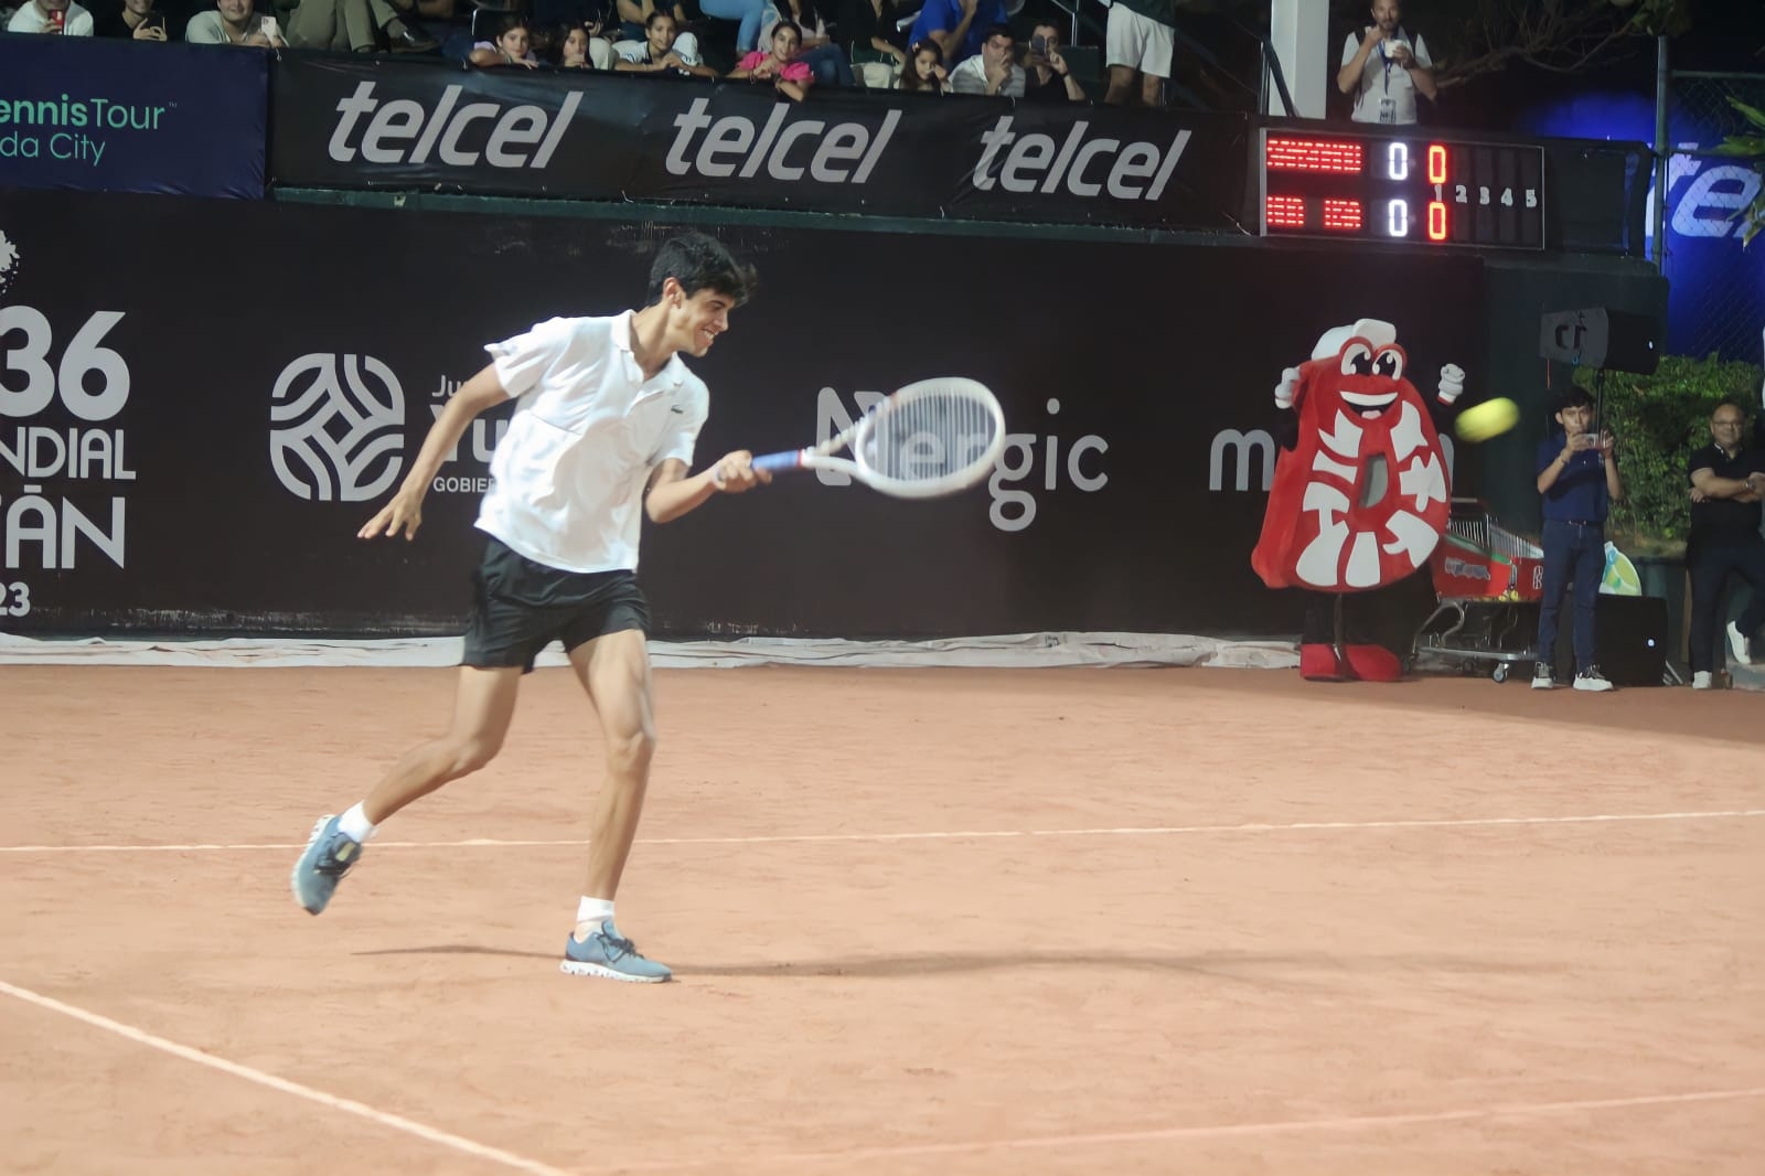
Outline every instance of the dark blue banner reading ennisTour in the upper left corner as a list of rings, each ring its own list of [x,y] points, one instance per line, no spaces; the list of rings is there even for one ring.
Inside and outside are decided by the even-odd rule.
[[[263,196],[270,55],[0,37],[0,187]]]

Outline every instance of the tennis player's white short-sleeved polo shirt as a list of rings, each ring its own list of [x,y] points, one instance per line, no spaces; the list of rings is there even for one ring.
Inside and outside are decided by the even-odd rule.
[[[552,318],[485,346],[515,415],[491,456],[478,528],[537,563],[635,572],[651,470],[692,464],[710,392],[680,355],[646,381],[632,314]]]

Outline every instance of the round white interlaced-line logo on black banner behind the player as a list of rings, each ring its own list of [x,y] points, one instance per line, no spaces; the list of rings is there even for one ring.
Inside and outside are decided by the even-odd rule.
[[[291,362],[270,392],[270,464],[297,498],[385,493],[404,464],[399,378],[372,355],[312,351]]]

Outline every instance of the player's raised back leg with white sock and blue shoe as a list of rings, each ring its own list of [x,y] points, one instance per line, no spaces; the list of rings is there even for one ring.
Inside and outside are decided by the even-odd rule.
[[[339,816],[323,816],[312,828],[289,885],[307,913],[323,911],[337,883],[349,872],[374,826],[418,796],[491,763],[508,735],[521,689],[521,667],[459,671],[454,722],[447,735],[404,752],[367,800]]]

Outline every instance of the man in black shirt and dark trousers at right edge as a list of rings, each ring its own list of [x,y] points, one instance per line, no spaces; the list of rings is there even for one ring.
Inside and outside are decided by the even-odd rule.
[[[1753,429],[1754,447],[1742,445],[1747,413],[1719,404],[1710,413],[1710,438],[1691,456],[1691,537],[1686,569],[1691,572],[1691,685],[1709,690],[1723,664],[1716,652],[1716,606],[1730,572],[1753,586],[1753,602],[1739,623],[1728,622],[1728,646],[1742,666],[1753,660],[1753,637],[1765,625],[1765,537],[1760,535],[1760,500],[1765,498],[1765,449],[1758,445],[1765,418]]]

